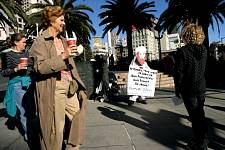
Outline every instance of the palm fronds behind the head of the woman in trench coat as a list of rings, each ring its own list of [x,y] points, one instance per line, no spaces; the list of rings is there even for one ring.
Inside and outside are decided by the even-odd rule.
[[[27,25],[27,28],[30,29],[30,32],[36,30],[36,23],[40,28],[43,27],[42,21],[42,10],[46,6],[56,5],[61,6],[65,12],[65,23],[66,30],[71,33],[74,31],[78,37],[78,43],[90,43],[91,33],[95,34],[96,31],[92,26],[92,21],[89,16],[84,11],[93,12],[93,10],[87,5],[73,5],[76,0],[53,0],[53,3],[50,0],[44,0],[45,3],[37,3],[31,5],[29,10],[37,9],[35,13],[32,13],[29,16],[30,23]]]

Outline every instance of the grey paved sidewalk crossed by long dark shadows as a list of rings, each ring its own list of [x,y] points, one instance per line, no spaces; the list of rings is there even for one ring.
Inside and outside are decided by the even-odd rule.
[[[191,137],[184,105],[174,106],[173,93],[157,90],[148,104],[88,101],[86,143],[81,150],[182,150]],[[2,100],[0,100],[2,101]],[[225,149],[225,90],[207,91],[206,116],[210,149]],[[0,103],[0,150],[29,149],[17,130],[4,125]]]

